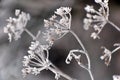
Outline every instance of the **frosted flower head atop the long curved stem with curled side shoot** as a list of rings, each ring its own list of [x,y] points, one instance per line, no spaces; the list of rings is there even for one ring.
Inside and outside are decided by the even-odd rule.
[[[52,17],[44,20],[44,26],[47,30],[44,32],[46,41],[52,45],[55,40],[62,38],[67,34],[71,27],[71,8],[60,7]],[[58,16],[57,16],[58,15]],[[61,18],[59,18],[61,17]]]

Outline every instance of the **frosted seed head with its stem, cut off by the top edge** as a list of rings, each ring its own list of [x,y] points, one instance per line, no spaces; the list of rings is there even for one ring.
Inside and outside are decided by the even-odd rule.
[[[93,39],[100,39],[99,34],[101,33],[104,26],[109,23],[115,29],[120,32],[120,28],[109,20],[109,0],[95,0],[95,3],[100,5],[100,8],[96,10],[94,6],[87,5],[84,9],[87,12],[86,18],[84,18],[84,29],[88,30],[89,27],[93,27],[95,32],[91,34]]]

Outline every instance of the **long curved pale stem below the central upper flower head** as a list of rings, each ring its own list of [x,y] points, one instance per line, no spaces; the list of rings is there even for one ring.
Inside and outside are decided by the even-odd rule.
[[[88,61],[88,67],[85,67],[85,65],[81,65],[81,63],[80,63],[79,65],[80,65],[82,68],[84,68],[85,70],[87,70],[88,73],[89,73],[89,75],[90,75],[90,77],[91,77],[91,80],[94,80],[93,75],[92,75],[92,72],[91,72],[90,57],[89,57],[89,55],[88,55],[87,50],[85,49],[85,47],[84,47],[83,43],[81,42],[80,38],[79,38],[72,30],[70,30],[70,33],[75,37],[75,39],[78,41],[78,43],[80,44],[80,46],[81,46],[82,49],[84,50],[84,52],[85,52],[84,54],[85,54],[85,56],[86,56],[86,58],[87,58],[87,61]],[[76,52],[78,52],[78,51],[76,51]]]

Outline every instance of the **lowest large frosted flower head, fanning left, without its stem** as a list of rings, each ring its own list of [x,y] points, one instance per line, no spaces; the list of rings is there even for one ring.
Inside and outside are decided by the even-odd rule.
[[[29,55],[24,56],[23,60],[23,75],[27,74],[39,74],[42,70],[47,69],[50,66],[50,62],[48,62],[45,50],[43,45],[39,43],[39,41],[31,42],[31,46],[28,50]]]

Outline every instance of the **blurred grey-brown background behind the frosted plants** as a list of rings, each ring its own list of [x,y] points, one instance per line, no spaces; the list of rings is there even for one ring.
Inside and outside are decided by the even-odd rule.
[[[83,29],[84,7],[94,5],[99,7],[94,0],[0,0],[0,80],[55,80],[50,71],[42,71],[40,75],[28,75],[22,77],[21,69],[23,56],[27,55],[28,47],[32,41],[26,33],[18,41],[9,43],[7,34],[3,33],[6,19],[14,16],[15,9],[28,12],[31,20],[27,25],[28,30],[36,34],[38,29],[43,28],[43,20],[49,18],[60,6],[72,7],[72,30],[79,36],[89,52],[92,73],[95,80],[112,80],[112,75],[120,75],[120,50],[113,54],[110,66],[106,66],[100,60],[103,53],[101,46],[113,50],[114,43],[120,43],[120,33],[111,25],[107,24],[100,34],[100,40],[90,38],[92,29]],[[120,2],[110,0],[110,20],[120,27]],[[63,72],[78,80],[90,80],[89,74],[73,60],[67,65],[65,59],[71,49],[80,46],[71,34],[55,42],[50,50],[50,60]],[[60,80],[66,80],[60,78]]]

